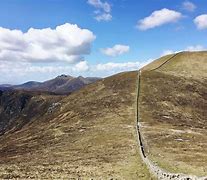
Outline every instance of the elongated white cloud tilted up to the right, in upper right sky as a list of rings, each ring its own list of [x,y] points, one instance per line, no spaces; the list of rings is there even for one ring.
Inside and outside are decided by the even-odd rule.
[[[137,28],[140,30],[152,29],[164,24],[177,22],[182,17],[180,12],[164,8],[154,11],[150,16],[140,20]]]

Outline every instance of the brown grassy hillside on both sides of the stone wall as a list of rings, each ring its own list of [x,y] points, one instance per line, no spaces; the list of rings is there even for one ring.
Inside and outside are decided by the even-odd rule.
[[[206,52],[165,56],[142,69],[146,155],[172,173],[207,175],[206,73]],[[34,112],[29,123],[0,136],[0,179],[152,179],[139,155],[137,75],[121,73],[69,96],[39,95],[43,106],[32,98],[22,111]]]

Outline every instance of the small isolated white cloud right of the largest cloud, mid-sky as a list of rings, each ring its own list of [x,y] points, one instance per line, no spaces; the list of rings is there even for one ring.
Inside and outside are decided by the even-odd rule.
[[[129,46],[117,44],[113,46],[112,48],[101,49],[101,52],[107,56],[115,57],[115,56],[127,53],[129,49],[130,49]]]

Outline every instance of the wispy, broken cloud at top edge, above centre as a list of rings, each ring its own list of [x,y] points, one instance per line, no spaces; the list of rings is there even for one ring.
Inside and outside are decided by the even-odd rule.
[[[95,19],[97,21],[110,21],[112,20],[111,5],[108,2],[101,0],[88,0],[88,4],[95,7]]]

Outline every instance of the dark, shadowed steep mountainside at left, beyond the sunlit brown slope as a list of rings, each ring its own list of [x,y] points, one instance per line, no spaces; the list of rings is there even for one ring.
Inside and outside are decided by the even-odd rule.
[[[0,90],[0,135],[18,131],[49,113],[51,105],[63,97],[46,92]]]

